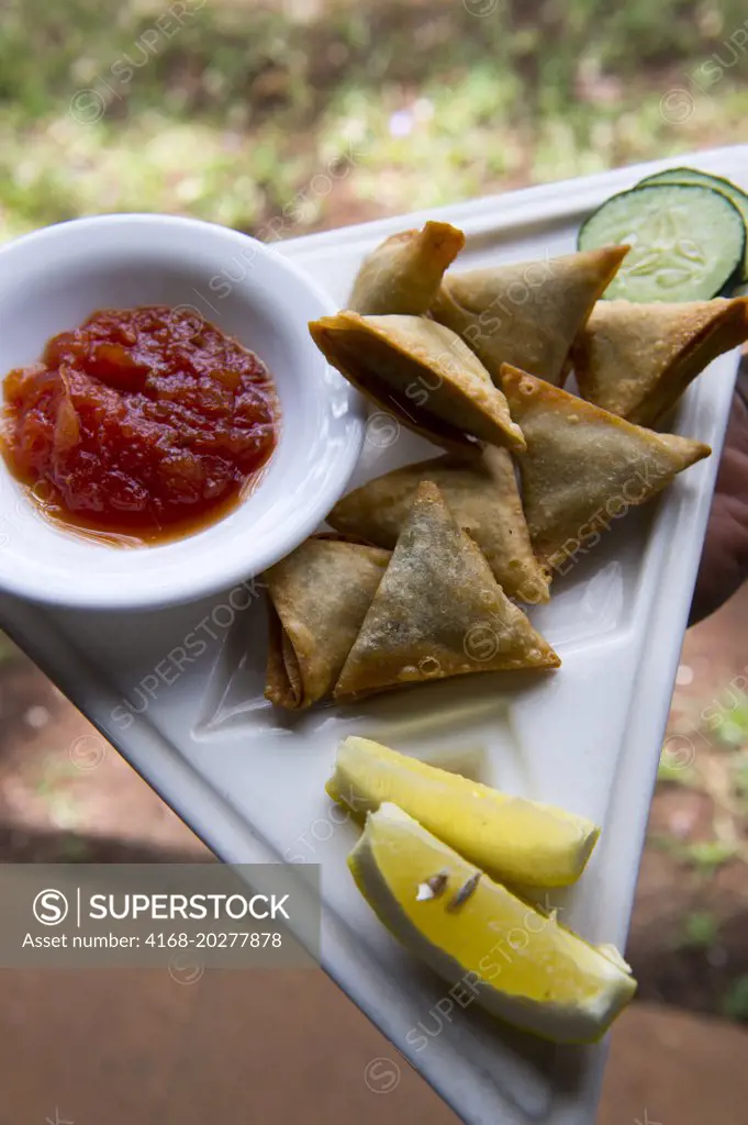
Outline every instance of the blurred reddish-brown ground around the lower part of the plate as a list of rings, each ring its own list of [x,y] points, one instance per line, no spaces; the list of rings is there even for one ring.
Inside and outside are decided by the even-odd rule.
[[[686,637],[670,730],[695,752],[688,784],[660,784],[652,806],[628,950],[639,1000],[613,1034],[600,1125],[745,1119],[748,1032],[711,1014],[733,997],[748,1018],[735,1000],[748,980],[748,865],[705,867],[684,848],[715,831],[745,838],[745,807],[722,804],[727,752],[697,732],[745,664],[747,630],[748,587]],[[210,858],[19,654],[0,667],[0,714],[1,860]],[[666,744],[670,764],[683,745]],[[206,974],[195,988],[145,971],[1,978],[0,1125],[456,1120],[318,972]],[[387,1098],[367,1086],[377,1059],[397,1078]]]

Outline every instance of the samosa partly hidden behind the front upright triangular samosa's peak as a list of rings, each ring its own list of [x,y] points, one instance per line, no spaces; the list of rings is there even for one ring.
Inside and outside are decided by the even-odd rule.
[[[549,576],[532,552],[514,465],[505,449],[447,453],[386,472],[339,501],[327,522],[337,531],[391,549],[422,480],[439,486],[505,594],[521,602],[548,601]]]

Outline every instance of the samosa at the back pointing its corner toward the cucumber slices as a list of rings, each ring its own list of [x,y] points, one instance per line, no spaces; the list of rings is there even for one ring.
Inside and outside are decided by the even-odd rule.
[[[447,273],[432,315],[470,345],[501,386],[502,363],[560,386],[571,343],[628,246]]]

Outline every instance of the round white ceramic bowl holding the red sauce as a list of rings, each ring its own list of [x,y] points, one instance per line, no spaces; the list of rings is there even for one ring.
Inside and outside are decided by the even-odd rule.
[[[226,590],[301,542],[343,492],[363,440],[360,397],[327,367],[307,321],[334,312],[295,264],[193,219],[105,215],[0,249],[0,378],[99,308],[188,306],[256,352],[280,399],[280,439],[254,492],[196,534],[124,549],[35,508],[0,464],[0,590],[58,605],[134,609]],[[1,459],[0,459],[1,461]]]

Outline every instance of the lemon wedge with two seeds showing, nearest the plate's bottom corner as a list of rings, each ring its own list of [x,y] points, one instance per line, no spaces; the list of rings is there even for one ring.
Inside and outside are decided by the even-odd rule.
[[[381,921],[494,1016],[558,1043],[598,1040],[636,991],[611,957],[493,882],[395,804],[367,817],[349,856]]]

